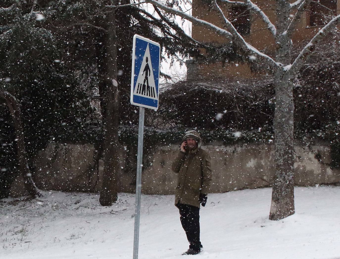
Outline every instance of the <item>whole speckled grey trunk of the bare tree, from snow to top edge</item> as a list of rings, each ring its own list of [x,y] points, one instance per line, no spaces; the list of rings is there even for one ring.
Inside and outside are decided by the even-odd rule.
[[[276,61],[290,64],[291,40],[284,32],[289,19],[288,1],[277,2]],[[274,73],[275,86],[275,169],[270,220],[280,220],[295,213],[294,209],[294,102],[289,70],[283,66]]]

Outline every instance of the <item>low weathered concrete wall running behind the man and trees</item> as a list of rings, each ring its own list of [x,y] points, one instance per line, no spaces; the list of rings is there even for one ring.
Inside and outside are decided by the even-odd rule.
[[[272,182],[273,145],[205,145],[211,158],[211,193],[244,188],[269,186]],[[179,144],[160,146],[148,153],[143,161],[142,192],[146,194],[173,194],[177,175],[171,163]],[[134,192],[135,152],[120,150],[119,191]],[[145,150],[147,153],[148,150]],[[340,170],[330,168],[330,149],[326,145],[305,148],[295,146],[295,176],[297,185],[340,182]],[[103,179],[103,161],[96,163],[92,145],[50,144],[36,157],[34,180],[43,190],[99,192]],[[22,195],[20,179],[13,184],[12,196]]]

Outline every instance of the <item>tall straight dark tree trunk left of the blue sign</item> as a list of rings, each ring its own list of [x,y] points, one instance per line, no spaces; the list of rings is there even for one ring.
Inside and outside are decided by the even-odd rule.
[[[117,175],[119,171],[119,91],[117,82],[117,38],[115,13],[107,14],[105,37],[105,113],[104,113],[104,179],[100,204],[111,206],[118,198]]]

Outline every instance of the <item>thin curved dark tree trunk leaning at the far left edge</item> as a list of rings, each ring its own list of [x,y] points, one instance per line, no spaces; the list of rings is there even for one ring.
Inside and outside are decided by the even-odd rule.
[[[27,162],[19,103],[17,102],[16,98],[8,92],[0,91],[0,96],[6,100],[6,104],[13,118],[13,122],[15,126],[15,134],[16,134],[16,139],[17,139],[16,142],[17,142],[17,156],[18,156],[18,164],[19,164],[18,167],[19,167],[20,174],[24,179],[25,188],[28,190],[31,196],[38,195],[40,197],[41,193],[39,192],[38,188],[34,184],[34,181],[32,179],[32,174],[30,172],[30,168]]]

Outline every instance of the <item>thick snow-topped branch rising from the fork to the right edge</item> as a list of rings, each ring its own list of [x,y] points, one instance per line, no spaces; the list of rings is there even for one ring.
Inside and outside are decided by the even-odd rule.
[[[294,60],[290,70],[294,73],[301,68],[303,60],[315,49],[316,45],[323,39],[331,30],[333,30],[340,23],[340,15],[334,17],[329,21],[303,48],[297,58]]]

